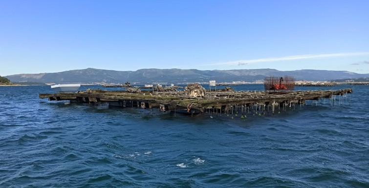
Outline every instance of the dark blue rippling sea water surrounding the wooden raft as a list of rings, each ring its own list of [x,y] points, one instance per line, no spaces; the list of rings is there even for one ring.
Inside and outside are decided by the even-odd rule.
[[[295,89],[349,87],[336,100],[232,119],[49,102],[39,93],[50,86],[2,86],[0,187],[369,188],[369,85]]]

